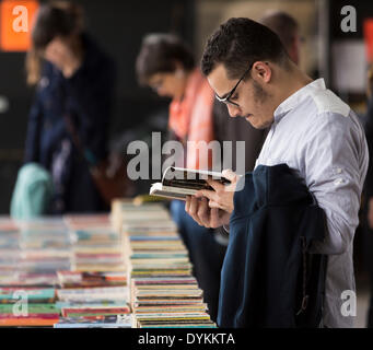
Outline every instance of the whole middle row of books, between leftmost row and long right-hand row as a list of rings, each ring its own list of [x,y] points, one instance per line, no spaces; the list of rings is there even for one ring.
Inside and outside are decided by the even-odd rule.
[[[108,215],[63,218],[73,242],[73,271],[59,271],[55,328],[130,328],[121,236]]]

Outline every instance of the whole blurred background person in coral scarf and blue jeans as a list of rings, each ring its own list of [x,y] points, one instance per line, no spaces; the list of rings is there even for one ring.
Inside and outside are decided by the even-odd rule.
[[[182,142],[184,160],[179,166],[209,168],[211,159],[203,162],[188,141],[214,140],[214,95],[207,80],[196,67],[195,59],[180,38],[171,34],[150,34],[144,37],[136,62],[142,85],[152,88],[160,96],[171,97],[168,115],[170,139]],[[203,290],[212,319],[218,312],[220,272],[225,245],[218,242],[215,232],[199,226],[185,212],[185,202],[173,200],[173,219],[188,248],[194,273]]]

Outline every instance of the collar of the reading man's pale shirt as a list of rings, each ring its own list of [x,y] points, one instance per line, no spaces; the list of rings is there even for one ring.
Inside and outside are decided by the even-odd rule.
[[[295,108],[305,97],[310,95],[311,90],[326,90],[325,81],[323,78],[317,79],[302,89],[294,92],[287,100],[276,108],[273,113],[275,122],[278,122],[287,115],[288,112]]]

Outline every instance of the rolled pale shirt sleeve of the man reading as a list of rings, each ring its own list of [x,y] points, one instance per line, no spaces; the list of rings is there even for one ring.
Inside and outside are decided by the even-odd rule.
[[[362,185],[368,167],[366,141],[359,121],[323,113],[304,148],[306,185],[325,211],[327,232],[311,253],[338,255],[352,244],[359,224]]]

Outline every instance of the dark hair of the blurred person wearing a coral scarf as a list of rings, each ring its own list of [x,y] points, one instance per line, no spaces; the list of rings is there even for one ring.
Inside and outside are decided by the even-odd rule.
[[[175,62],[187,71],[195,68],[195,59],[187,45],[172,34],[149,34],[141,45],[136,61],[136,72],[141,84],[156,73],[174,72]]]

